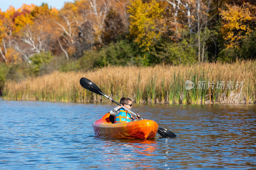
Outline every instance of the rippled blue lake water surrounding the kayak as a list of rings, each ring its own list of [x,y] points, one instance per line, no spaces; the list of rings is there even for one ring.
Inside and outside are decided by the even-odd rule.
[[[132,105],[178,137],[95,137],[114,104],[0,100],[0,169],[255,169],[256,105]]]

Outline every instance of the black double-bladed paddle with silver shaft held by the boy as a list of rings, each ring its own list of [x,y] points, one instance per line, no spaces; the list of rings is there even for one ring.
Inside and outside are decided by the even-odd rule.
[[[82,87],[84,87],[85,89],[94,92],[96,94],[102,95],[106,98],[108,98],[109,100],[113,101],[114,103],[116,103],[119,106],[122,106],[120,103],[116,102],[115,100],[111,99],[109,96],[107,96],[106,94],[104,94],[103,92],[101,92],[100,88],[95,85],[95,83],[93,83],[91,80],[82,77],[80,79],[80,85]],[[137,117],[141,118],[140,116],[138,116],[137,114],[133,113],[131,110],[127,109],[126,107],[122,106],[125,110],[127,110],[128,112],[132,113],[133,115],[136,115]],[[141,118],[142,119],[142,118]],[[157,129],[157,133],[159,133],[159,135],[161,135],[162,137],[176,137],[176,135],[174,133],[172,133],[170,130],[164,129],[164,128],[160,128],[158,127]]]

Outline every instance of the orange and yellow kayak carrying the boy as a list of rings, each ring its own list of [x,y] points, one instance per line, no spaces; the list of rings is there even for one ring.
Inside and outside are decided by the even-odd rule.
[[[113,123],[114,116],[109,113],[93,122],[94,133],[98,137],[116,139],[153,139],[156,137],[158,124],[155,121],[143,119],[128,123]]]

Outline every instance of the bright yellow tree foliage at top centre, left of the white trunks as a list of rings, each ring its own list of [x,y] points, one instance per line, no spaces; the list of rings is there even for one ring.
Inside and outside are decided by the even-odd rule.
[[[163,21],[163,8],[155,0],[150,3],[143,3],[141,0],[130,2],[128,12],[130,13],[130,34],[135,37],[134,41],[140,48],[149,50],[153,46],[154,40],[162,35],[158,24]]]

